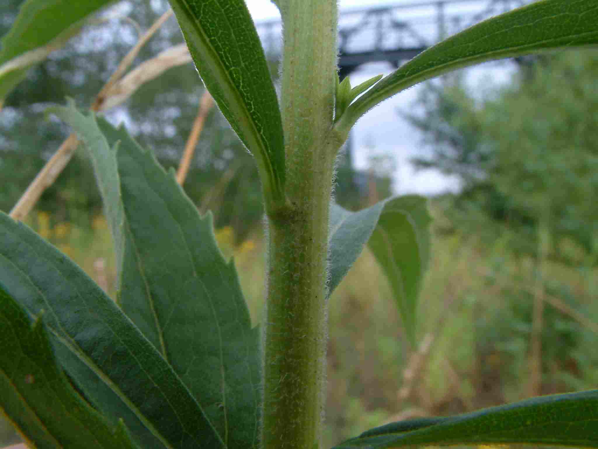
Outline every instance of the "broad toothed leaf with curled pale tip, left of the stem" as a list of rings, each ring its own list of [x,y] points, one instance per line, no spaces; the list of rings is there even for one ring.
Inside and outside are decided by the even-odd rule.
[[[105,120],[98,127],[72,105],[53,111],[90,150],[117,242],[121,308],[172,365],[225,444],[257,447],[259,330],[251,329],[211,214],[200,217],[174,174],[123,128]]]

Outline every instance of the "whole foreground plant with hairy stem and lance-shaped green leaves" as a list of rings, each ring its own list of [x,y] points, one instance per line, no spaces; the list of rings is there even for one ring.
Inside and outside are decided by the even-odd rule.
[[[2,38],[0,96],[111,3],[27,0]],[[335,160],[352,126],[385,99],[454,69],[598,43],[596,0],[541,0],[352,89],[337,77],[337,2],[275,3],[279,96],[243,0],[170,0],[203,83],[260,172],[268,260],[258,326],[210,214],[200,216],[174,172],[122,126],[72,102],[48,111],[72,126],[93,161],[118,298],[0,216],[0,406],[30,447],[320,448],[330,293],[368,244],[414,344],[429,251],[424,198],[357,213],[331,202]],[[336,448],[598,447],[597,422],[594,390],[387,424]]]

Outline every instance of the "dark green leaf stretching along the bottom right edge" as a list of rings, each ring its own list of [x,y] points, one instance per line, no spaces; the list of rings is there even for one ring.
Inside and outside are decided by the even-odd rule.
[[[415,421],[411,426],[411,421],[404,421],[368,430],[334,449],[481,444],[598,447],[598,390]]]

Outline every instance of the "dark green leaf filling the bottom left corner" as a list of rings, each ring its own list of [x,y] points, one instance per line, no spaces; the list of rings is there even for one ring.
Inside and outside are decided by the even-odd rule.
[[[41,318],[25,311],[0,286],[0,409],[33,447],[133,449],[117,426],[91,408],[57,365]]]

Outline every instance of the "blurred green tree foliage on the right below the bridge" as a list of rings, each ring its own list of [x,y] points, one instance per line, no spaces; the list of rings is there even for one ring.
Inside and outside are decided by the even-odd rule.
[[[458,75],[428,85],[424,116],[408,118],[432,155],[414,162],[462,180],[453,201],[459,226],[475,221],[472,214],[485,217],[490,240],[507,233],[512,248],[534,254],[545,220],[551,257],[579,263],[559,251],[569,238],[584,263],[598,263],[597,75],[598,54],[585,50],[522,65],[512,83],[481,98]]]

